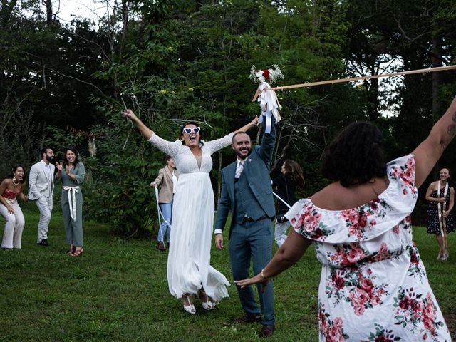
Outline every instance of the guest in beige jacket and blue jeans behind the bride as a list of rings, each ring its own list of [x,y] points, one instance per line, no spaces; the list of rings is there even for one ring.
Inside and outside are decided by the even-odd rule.
[[[166,165],[160,171],[155,180],[150,183],[152,187],[158,187],[162,183],[160,192],[158,193],[158,203],[160,210],[163,214],[163,222],[158,229],[157,236],[157,249],[164,251],[166,247],[170,247],[171,236],[171,220],[172,220],[172,197],[177,185],[177,178],[179,177],[177,170],[175,170],[174,160],[170,155],[166,156]],[[167,231],[167,244],[165,247],[165,232]]]

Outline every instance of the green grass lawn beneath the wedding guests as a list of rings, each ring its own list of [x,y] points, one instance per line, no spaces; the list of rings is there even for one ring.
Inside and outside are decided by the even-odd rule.
[[[197,302],[190,316],[170,296],[167,252],[150,241],[125,241],[109,227],[84,225],[85,252],[68,247],[59,206],[49,229],[51,246],[36,245],[38,210],[26,212],[21,250],[0,250],[0,341],[256,341],[259,323],[229,326],[243,312],[234,285],[213,311]],[[3,226],[3,220],[0,219]],[[1,229],[2,230],[2,229]],[[415,227],[415,242],[432,289],[455,337],[456,234],[450,259],[435,260],[437,242]],[[227,239],[225,237],[225,239]],[[275,248],[275,247],[274,247]],[[314,249],[274,281],[276,333],[268,341],[318,341],[317,296],[321,266]],[[232,281],[227,246],[212,249],[212,266]]]

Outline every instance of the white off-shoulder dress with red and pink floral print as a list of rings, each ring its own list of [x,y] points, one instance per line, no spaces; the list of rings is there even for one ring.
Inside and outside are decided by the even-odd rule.
[[[325,210],[306,198],[286,214],[323,264],[320,341],[451,341],[412,240],[413,155],[387,172],[388,188],[360,207]]]

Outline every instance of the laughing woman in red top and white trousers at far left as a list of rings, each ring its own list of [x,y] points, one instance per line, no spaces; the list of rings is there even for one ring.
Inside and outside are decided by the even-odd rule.
[[[24,230],[24,214],[16,197],[27,200],[22,193],[26,185],[24,167],[15,165],[11,174],[7,175],[0,183],[0,214],[6,220],[1,248],[21,248],[22,231]]]

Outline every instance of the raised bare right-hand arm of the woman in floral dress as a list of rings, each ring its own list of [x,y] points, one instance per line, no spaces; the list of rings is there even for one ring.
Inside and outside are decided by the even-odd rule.
[[[415,155],[415,185],[420,187],[432,171],[445,148],[456,135],[456,97],[429,136],[413,151]]]

